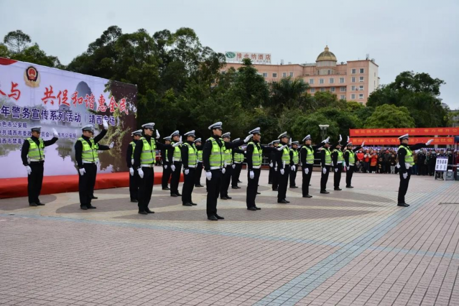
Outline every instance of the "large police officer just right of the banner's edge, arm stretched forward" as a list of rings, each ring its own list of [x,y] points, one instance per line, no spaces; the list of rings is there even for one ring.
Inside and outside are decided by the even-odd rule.
[[[139,198],[138,207],[139,214],[154,214],[155,212],[150,211],[148,204],[151,199],[151,192],[153,191],[153,184],[155,181],[155,162],[156,162],[156,149],[172,149],[170,144],[162,144],[157,142],[153,135],[154,122],[145,123],[143,127],[143,137],[136,143],[134,149],[134,168],[137,169],[139,175]],[[156,130],[156,139],[159,139],[160,135]],[[174,145],[179,146],[181,142],[177,142]]]

